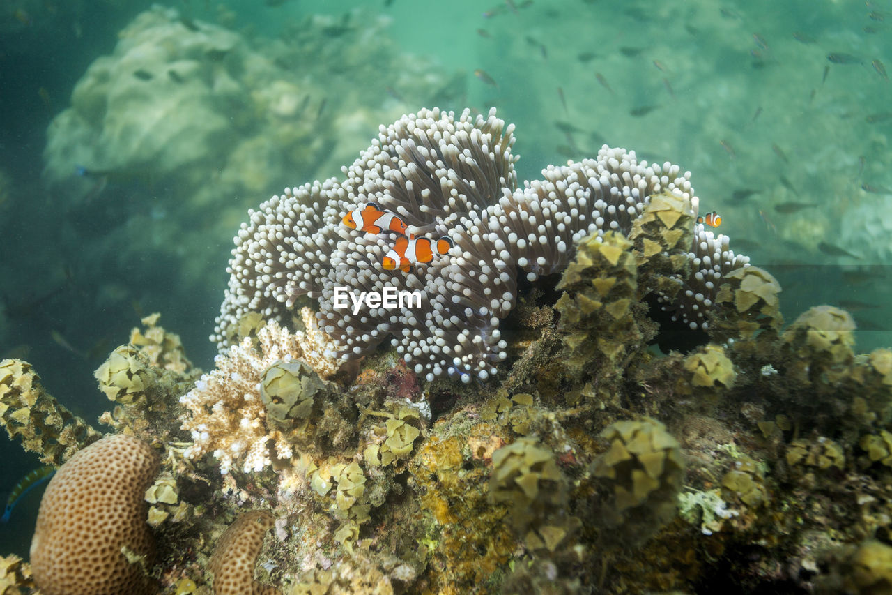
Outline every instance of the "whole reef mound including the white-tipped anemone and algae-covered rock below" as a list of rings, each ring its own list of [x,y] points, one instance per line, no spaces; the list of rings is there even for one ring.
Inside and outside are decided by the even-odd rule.
[[[383,127],[346,180],[252,214],[213,371],[196,380],[154,317],[97,371],[103,421],[164,449],[136,490],[145,572],[184,594],[888,591],[892,350],[858,354],[830,306],[785,329],[778,281],[694,222],[674,166],[604,148],[516,189],[504,122],[423,114]],[[335,226],[367,200],[455,240],[392,276],[429,285],[442,325],[328,316],[326,284],[377,282],[363,266],[388,237]],[[494,322],[475,326],[482,307]],[[7,427],[55,407],[29,365],[0,371]],[[29,440],[60,460],[81,446]]]

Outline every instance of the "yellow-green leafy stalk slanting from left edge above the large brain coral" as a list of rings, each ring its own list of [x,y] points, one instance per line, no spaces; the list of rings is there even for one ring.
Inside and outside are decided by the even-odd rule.
[[[36,452],[47,465],[62,465],[101,436],[59,405],[40,385],[31,365],[19,359],[0,361],[0,421],[10,438],[20,437],[22,447]]]

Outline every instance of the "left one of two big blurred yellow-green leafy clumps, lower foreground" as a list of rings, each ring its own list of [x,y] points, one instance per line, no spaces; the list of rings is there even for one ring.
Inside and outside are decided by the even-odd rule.
[[[489,499],[508,506],[505,519],[529,549],[554,551],[578,526],[566,515],[567,481],[554,453],[532,438],[492,453]]]

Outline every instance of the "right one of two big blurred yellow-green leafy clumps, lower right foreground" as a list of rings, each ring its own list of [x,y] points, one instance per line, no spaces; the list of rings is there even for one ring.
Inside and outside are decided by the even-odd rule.
[[[684,477],[681,447],[649,417],[612,423],[601,436],[610,447],[590,472],[607,499],[595,506],[610,538],[646,541],[675,515]]]

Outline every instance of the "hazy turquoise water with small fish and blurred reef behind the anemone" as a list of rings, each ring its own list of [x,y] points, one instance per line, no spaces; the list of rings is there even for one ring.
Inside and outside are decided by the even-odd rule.
[[[149,6],[0,14],[0,356],[87,419],[108,406],[93,371],[141,315],[211,367],[247,210],[422,106],[496,106],[522,180],[602,143],[680,164],[788,321],[845,306],[861,351],[892,344],[888,2],[192,0],[132,24]],[[37,466],[3,440],[0,493]],[[0,541],[26,553],[35,514]]]

